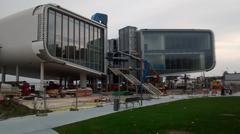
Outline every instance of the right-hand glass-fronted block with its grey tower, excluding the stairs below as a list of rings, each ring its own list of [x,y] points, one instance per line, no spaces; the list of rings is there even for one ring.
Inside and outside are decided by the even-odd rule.
[[[119,30],[117,46],[118,51],[144,59],[154,72],[161,75],[209,71],[216,62],[214,35],[210,30],[137,30],[127,26]],[[122,61],[121,68],[140,67],[139,61],[127,57],[125,62]],[[117,61],[121,62],[118,58],[113,59],[114,63]]]

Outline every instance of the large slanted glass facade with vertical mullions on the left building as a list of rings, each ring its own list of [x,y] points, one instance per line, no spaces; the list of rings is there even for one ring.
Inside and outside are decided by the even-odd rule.
[[[49,9],[47,35],[51,56],[103,72],[103,28]]]

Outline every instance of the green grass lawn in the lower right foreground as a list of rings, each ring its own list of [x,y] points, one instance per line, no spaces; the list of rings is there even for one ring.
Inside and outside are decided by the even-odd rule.
[[[60,134],[240,134],[240,97],[181,100],[55,128]]]

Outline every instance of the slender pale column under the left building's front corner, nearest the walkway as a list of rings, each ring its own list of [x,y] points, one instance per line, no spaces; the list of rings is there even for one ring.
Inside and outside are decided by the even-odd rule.
[[[44,88],[44,62],[42,62],[40,65],[40,87],[41,87],[41,91],[43,91],[44,110],[46,110],[47,102],[46,102],[46,89]]]

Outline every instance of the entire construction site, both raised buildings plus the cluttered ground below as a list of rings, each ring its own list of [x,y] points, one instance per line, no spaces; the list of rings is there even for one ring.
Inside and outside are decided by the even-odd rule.
[[[18,19],[26,23],[19,26]],[[118,38],[108,39],[107,19],[99,13],[87,19],[47,4],[0,20],[0,102],[12,99],[36,111],[113,104],[118,111],[121,104],[141,106],[143,100],[168,95],[236,92],[233,85],[222,92],[222,76],[193,79],[186,75],[214,68],[211,30],[127,26],[119,30]],[[32,29],[18,36],[29,25]],[[21,28],[5,32],[11,26]],[[26,54],[13,54],[19,49]],[[16,76],[16,81],[6,81],[7,74]],[[31,84],[20,76],[40,82]]]

